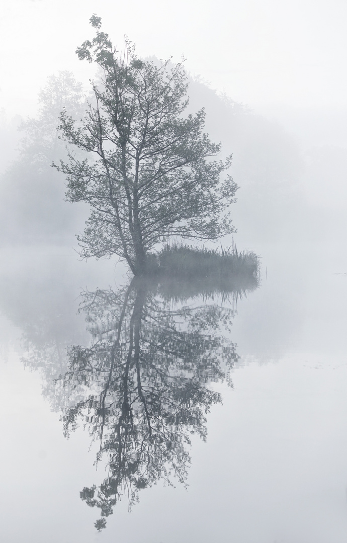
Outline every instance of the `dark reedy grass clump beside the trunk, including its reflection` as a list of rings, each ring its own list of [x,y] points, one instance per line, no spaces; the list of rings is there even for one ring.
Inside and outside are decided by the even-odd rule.
[[[185,299],[199,294],[213,297],[246,295],[259,286],[260,259],[253,251],[199,249],[167,244],[151,255],[148,271],[156,275],[165,298]]]

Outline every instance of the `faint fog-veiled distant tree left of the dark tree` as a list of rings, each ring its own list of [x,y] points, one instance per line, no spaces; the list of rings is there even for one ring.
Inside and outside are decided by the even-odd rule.
[[[51,75],[39,93],[39,111],[20,125],[18,158],[1,176],[0,240],[3,243],[61,243],[73,238],[78,213],[64,202],[65,191],[52,161],[65,156],[56,127],[66,107],[72,115],[84,110],[81,85],[71,72]]]

